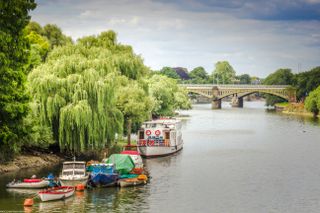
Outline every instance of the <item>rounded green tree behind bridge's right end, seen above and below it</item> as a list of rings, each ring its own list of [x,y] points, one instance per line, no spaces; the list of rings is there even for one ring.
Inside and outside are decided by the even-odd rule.
[[[293,74],[290,69],[278,69],[274,73],[271,73],[267,78],[264,79],[263,84],[266,85],[292,85],[293,84]],[[266,95],[266,104],[273,106],[276,103],[281,103],[286,101],[283,98]]]

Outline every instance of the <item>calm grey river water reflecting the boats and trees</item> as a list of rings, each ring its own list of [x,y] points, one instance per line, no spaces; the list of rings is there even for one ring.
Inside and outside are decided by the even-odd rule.
[[[100,188],[32,208],[36,191],[7,190],[14,177],[58,174],[60,168],[0,176],[0,212],[319,212],[320,123],[244,108],[194,105],[183,120],[184,149],[147,159],[152,179],[133,188]]]

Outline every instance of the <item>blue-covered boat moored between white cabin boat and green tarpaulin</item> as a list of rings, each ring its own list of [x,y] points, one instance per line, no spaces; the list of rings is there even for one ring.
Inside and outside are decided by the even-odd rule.
[[[119,174],[114,171],[113,164],[99,163],[93,164],[90,175],[90,183],[93,186],[103,187],[115,185],[119,179]]]

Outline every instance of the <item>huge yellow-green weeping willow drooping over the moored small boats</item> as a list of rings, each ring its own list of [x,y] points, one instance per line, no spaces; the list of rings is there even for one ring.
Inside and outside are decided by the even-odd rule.
[[[108,31],[54,49],[28,82],[41,123],[51,127],[60,149],[82,152],[103,148],[122,133],[119,79],[139,79],[147,71],[132,48]]]

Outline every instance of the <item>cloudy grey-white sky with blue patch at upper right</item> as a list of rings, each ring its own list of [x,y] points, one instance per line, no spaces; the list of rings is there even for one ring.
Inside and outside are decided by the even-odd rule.
[[[266,77],[320,66],[320,0],[36,0],[32,21],[76,40],[114,30],[145,65],[228,61],[237,74]]]

